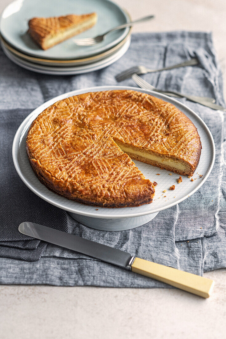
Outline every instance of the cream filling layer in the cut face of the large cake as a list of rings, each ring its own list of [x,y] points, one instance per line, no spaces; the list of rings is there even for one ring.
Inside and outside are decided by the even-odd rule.
[[[142,151],[137,151],[133,148],[130,148],[128,146],[124,146],[121,144],[118,144],[118,146],[122,149],[123,152],[125,153],[130,153],[130,154],[135,154],[135,155],[139,155],[142,158],[157,162],[160,165],[166,165],[172,168],[175,168],[179,171],[186,171],[186,167],[180,163],[178,160],[173,160],[173,159],[167,159],[167,158],[162,158],[162,157],[158,157],[157,155],[153,155],[147,152],[142,152]]]

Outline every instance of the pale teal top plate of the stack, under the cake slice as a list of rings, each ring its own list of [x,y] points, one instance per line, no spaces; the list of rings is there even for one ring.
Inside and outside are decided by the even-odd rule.
[[[80,15],[92,12],[98,15],[96,25],[76,37],[95,37],[112,27],[130,21],[126,12],[110,0],[16,0],[4,9],[0,19],[0,32],[13,47],[34,57],[58,60],[87,58],[117,45],[126,37],[129,28],[109,33],[103,42],[94,46],[77,46],[73,43],[73,37],[43,51],[28,35],[27,23],[33,17]]]

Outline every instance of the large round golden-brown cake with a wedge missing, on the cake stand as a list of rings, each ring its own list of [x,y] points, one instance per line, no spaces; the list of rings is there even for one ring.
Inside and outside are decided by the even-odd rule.
[[[172,104],[128,90],[60,100],[32,123],[30,165],[50,190],[102,207],[152,202],[153,184],[132,159],[192,175],[201,142],[196,127]]]

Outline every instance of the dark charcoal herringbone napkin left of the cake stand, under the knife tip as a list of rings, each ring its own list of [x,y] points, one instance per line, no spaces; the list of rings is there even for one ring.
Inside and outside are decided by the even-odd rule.
[[[18,232],[22,221],[33,220],[67,231],[66,212],[36,196],[20,180],[12,159],[15,131],[30,110],[7,109],[0,114],[0,257],[39,260],[46,247],[43,241]]]

